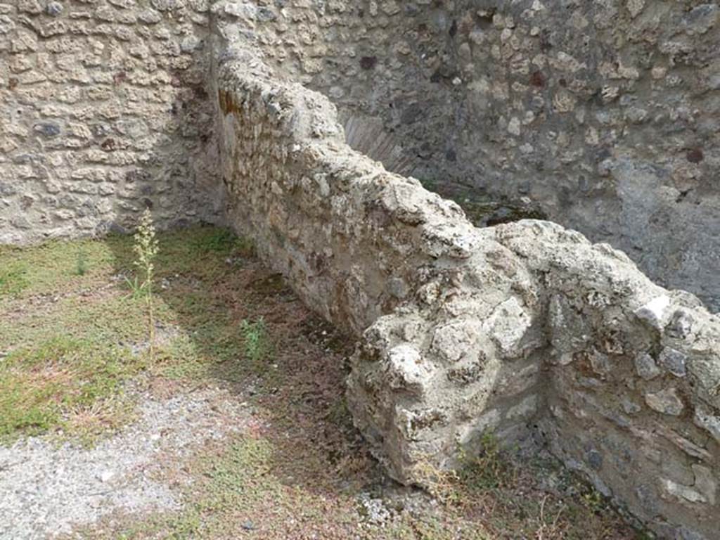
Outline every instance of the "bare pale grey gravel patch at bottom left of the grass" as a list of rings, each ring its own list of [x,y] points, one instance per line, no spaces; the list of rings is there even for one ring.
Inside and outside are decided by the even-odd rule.
[[[220,389],[139,397],[139,419],[92,449],[48,436],[0,446],[0,539],[52,539],[116,511],[176,510],[163,464],[243,429],[250,418]]]

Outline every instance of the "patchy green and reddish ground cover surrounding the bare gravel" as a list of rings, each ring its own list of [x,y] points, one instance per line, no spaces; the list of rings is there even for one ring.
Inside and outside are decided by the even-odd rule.
[[[158,234],[156,354],[132,238],[0,250],[0,437],[95,441],[132,421],[133,392],[220,386],[243,432],[179,459],[174,513],[114,514],[85,539],[495,540],[639,538],[552,460],[518,466],[492,439],[436,495],[384,477],[344,399],[352,343],[312,315],[227,230]],[[82,253],[82,258],[79,257]]]

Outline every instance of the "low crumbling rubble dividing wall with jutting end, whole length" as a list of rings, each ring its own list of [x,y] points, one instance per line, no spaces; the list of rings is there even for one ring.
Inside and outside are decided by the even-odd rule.
[[[714,538],[720,320],[559,225],[474,228],[235,38],[217,45],[230,222],[362,336],[349,402],[390,474],[420,482],[418,464],[451,467],[493,431],[549,444],[661,536]]]

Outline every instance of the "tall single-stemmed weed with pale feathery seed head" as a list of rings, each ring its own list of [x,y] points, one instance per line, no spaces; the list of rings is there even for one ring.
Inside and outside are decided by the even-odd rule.
[[[135,275],[135,279],[125,278],[133,299],[145,297],[145,305],[148,315],[148,339],[150,341],[150,360],[155,356],[155,315],[153,312],[153,279],[155,278],[155,258],[158,255],[159,244],[156,238],[155,225],[153,225],[153,216],[150,209],[146,208],[140,217],[140,224],[135,233],[135,244],[132,251],[135,252],[135,261],[132,264],[138,268],[138,272],[142,274],[140,277]]]

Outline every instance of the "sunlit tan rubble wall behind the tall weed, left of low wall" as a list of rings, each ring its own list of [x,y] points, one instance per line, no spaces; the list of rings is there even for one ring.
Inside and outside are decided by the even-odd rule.
[[[0,243],[217,220],[204,0],[0,3]]]

